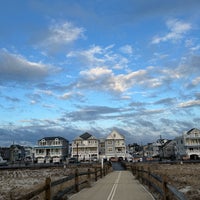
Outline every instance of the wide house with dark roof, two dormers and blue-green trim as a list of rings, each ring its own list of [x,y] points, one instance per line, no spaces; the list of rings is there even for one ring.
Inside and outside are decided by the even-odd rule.
[[[38,140],[35,159],[38,163],[57,163],[68,157],[69,142],[63,137],[44,137]]]

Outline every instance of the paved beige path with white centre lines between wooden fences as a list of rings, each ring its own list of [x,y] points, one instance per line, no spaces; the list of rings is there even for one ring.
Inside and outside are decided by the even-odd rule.
[[[130,171],[114,171],[71,196],[71,200],[153,200]]]

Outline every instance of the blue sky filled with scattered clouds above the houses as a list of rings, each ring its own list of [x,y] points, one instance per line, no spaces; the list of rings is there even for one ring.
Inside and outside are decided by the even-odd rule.
[[[200,128],[199,0],[0,2],[0,146]]]

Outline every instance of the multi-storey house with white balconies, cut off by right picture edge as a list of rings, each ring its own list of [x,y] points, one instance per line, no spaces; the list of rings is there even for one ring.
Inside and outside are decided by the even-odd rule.
[[[200,130],[193,128],[175,138],[175,154],[177,159],[200,158]]]

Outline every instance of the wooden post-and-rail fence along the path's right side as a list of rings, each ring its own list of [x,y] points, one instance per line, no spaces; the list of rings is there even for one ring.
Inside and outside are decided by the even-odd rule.
[[[178,191],[174,186],[167,182],[167,177],[158,176],[151,173],[150,168],[144,170],[142,166],[131,165],[129,166],[133,175],[142,183],[146,184],[151,191],[154,189],[160,194],[163,200],[167,199],[177,199],[177,200],[187,200],[184,194]]]

